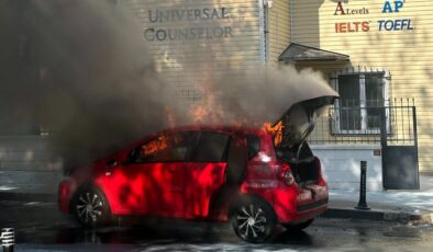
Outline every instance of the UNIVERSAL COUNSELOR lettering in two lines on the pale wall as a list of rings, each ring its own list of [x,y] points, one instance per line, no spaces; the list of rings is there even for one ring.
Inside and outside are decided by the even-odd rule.
[[[151,24],[170,23],[169,27],[145,28],[144,38],[148,42],[214,39],[233,36],[232,26],[218,25],[213,22],[230,21],[230,11],[226,8],[154,9],[147,12],[148,23]],[[188,27],[174,25],[177,22],[190,22],[191,25]],[[201,23],[208,25],[202,26]]]

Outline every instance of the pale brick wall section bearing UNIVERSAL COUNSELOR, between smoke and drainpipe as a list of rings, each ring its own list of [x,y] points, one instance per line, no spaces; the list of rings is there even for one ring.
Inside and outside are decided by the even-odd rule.
[[[257,0],[124,0],[167,91],[198,102],[213,75],[260,62]],[[148,53],[148,54],[147,54]]]

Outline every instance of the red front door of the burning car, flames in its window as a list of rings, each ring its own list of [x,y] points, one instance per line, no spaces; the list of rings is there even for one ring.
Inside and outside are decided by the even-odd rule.
[[[163,133],[133,148],[125,164],[112,171],[112,191],[123,214],[181,216],[185,162],[193,131]]]

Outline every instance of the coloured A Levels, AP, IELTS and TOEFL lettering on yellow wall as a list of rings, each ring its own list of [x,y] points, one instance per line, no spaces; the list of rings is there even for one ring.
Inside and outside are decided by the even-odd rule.
[[[385,1],[381,13],[400,13],[404,8],[403,1]],[[348,3],[337,2],[334,15],[347,16],[347,19],[357,15],[357,16],[368,16],[371,11],[368,7],[351,9],[348,8]],[[356,22],[336,22],[335,23],[335,33],[359,33],[359,32],[369,32],[371,31],[371,26],[376,26],[379,32],[382,31],[410,31],[413,30],[413,23],[411,19],[380,19],[377,22],[373,22],[367,20],[367,18],[363,21]]]

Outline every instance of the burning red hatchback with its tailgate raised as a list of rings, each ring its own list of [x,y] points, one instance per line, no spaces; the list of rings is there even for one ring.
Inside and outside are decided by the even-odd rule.
[[[119,215],[229,220],[251,242],[278,224],[303,229],[327,207],[306,138],[333,99],[297,103],[274,127],[189,126],[145,137],[65,179],[59,207],[88,227]]]

